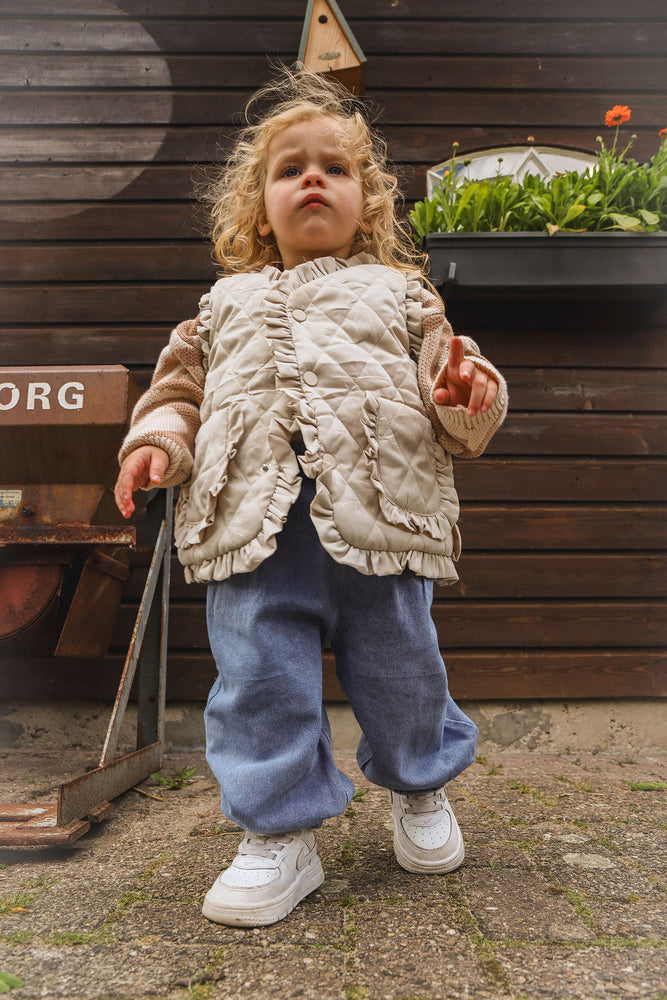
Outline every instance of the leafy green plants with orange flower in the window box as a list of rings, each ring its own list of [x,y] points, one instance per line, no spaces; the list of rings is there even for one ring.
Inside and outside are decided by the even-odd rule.
[[[544,179],[526,174],[519,183],[502,174],[502,158],[495,177],[472,180],[464,176],[454,143],[442,183],[430,198],[418,201],[409,213],[417,237],[443,232],[656,232],[667,229],[667,129],[660,130],[658,151],[647,163],[627,158],[636,138],[619,151],[619,126],[631,111],[616,105],[605,124],[615,127],[608,149],[597,137],[594,166],[584,173],[568,170]]]

